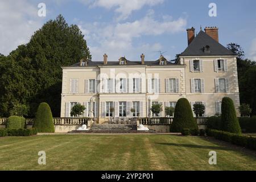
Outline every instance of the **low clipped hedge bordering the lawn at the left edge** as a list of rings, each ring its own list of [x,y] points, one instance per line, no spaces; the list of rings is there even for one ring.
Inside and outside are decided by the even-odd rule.
[[[0,137],[28,137],[38,134],[35,128],[32,129],[0,129]]]

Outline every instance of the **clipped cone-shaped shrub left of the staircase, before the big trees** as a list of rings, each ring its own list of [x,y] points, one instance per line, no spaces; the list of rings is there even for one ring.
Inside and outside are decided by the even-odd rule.
[[[47,103],[43,102],[38,106],[33,127],[35,127],[39,133],[55,132],[52,111]]]

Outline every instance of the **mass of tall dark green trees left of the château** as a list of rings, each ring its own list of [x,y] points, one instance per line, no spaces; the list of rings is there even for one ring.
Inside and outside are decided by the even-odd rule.
[[[49,20],[9,56],[0,56],[0,115],[9,117],[15,103],[28,105],[34,117],[40,102],[48,102],[60,116],[63,66],[91,59],[84,35],[63,16]]]

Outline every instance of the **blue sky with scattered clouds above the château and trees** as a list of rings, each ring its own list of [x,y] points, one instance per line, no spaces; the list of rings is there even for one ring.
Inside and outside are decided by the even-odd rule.
[[[46,4],[46,17],[38,16],[38,4]],[[217,16],[210,17],[209,3]],[[156,60],[159,53],[173,59],[187,47],[189,27],[217,26],[220,43],[240,44],[246,57],[256,60],[256,1],[167,0],[0,0],[0,53],[8,55],[27,43],[35,30],[62,14],[85,34],[93,60],[126,56]]]

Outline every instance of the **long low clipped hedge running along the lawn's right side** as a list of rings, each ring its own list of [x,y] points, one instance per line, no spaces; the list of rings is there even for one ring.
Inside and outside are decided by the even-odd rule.
[[[234,133],[229,133],[226,131],[211,130],[207,129],[207,135],[209,137],[214,137],[225,142],[230,142],[238,146],[247,147],[256,150],[256,138],[242,136]]]

